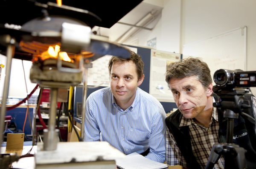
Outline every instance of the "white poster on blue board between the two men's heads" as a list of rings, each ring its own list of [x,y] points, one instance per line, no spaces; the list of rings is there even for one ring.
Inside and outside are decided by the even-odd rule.
[[[151,50],[149,94],[158,101],[175,102],[165,81],[165,73],[179,60],[180,54]]]

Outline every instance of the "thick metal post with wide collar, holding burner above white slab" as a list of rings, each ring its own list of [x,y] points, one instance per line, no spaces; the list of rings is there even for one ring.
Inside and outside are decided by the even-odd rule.
[[[44,130],[44,150],[57,149],[58,130],[55,130],[56,121],[56,103],[57,103],[58,88],[50,89],[50,110],[48,120],[48,130]]]

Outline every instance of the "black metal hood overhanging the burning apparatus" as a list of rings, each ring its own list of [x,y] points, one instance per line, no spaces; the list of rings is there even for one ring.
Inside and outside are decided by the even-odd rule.
[[[62,15],[81,20],[87,23],[91,28],[93,26],[111,28],[111,26],[142,1],[143,0],[62,0],[64,6],[84,9],[90,13],[86,14],[70,11],[54,6],[48,6],[47,11],[49,15]],[[38,6],[36,3],[47,4],[48,2],[56,3],[56,0],[0,0],[0,24],[9,23],[23,25],[29,20],[41,17],[41,10],[44,9],[44,7]]]

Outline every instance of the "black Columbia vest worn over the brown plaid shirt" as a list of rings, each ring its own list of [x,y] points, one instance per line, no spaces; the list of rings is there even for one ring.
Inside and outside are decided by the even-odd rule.
[[[214,98],[218,101],[218,96],[215,94]],[[252,104],[251,95],[245,94],[245,100],[250,101]],[[251,106],[250,112],[245,112],[248,115],[253,116],[253,106]],[[180,127],[180,121],[182,114],[179,110],[175,111],[166,118],[166,126],[175,138],[177,146],[180,149],[186,163],[189,164],[190,169],[200,169],[195,156],[192,152],[192,146],[190,142],[189,126]],[[219,121],[219,142],[225,143],[227,138],[227,119],[223,117],[223,112],[218,109],[218,121]],[[234,139],[235,138],[235,139]],[[255,125],[251,124],[249,121],[244,120],[244,118],[239,115],[238,119],[234,119],[233,128],[233,143],[238,144],[247,150],[245,153],[245,158],[247,162],[247,169],[256,168],[256,133]]]

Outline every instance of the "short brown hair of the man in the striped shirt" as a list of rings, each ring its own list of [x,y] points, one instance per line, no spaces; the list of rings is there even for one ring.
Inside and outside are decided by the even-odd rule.
[[[115,62],[124,63],[124,62],[130,62],[130,61],[133,62],[136,65],[138,80],[141,79],[143,74],[144,74],[143,73],[144,63],[141,59],[141,56],[136,54],[134,51],[131,51],[131,56],[128,59],[123,59],[123,58],[120,58],[120,57],[112,56],[111,59],[108,62],[109,76],[111,75],[112,65]]]

